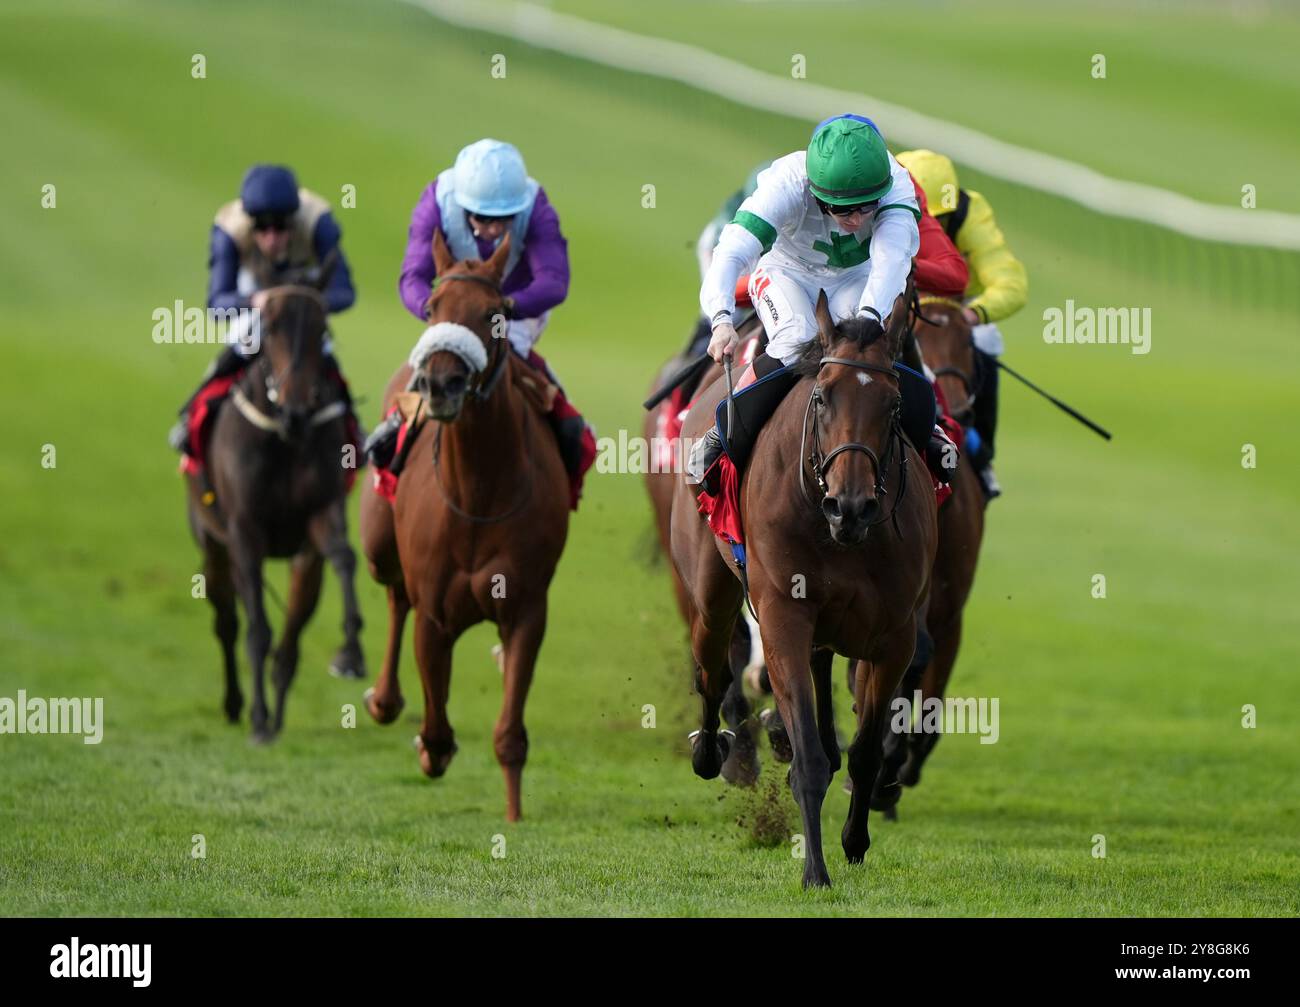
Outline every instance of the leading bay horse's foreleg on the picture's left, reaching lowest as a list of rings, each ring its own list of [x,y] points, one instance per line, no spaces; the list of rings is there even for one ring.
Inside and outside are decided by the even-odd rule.
[[[768,611],[763,609],[764,620]],[[831,782],[831,763],[818,734],[816,698],[809,668],[812,625],[805,613],[783,615],[768,621],[771,631],[763,639],[763,652],[772,694],[794,750],[790,791],[803,819],[803,887],[829,886],[831,876],[822,852],[822,802]]]

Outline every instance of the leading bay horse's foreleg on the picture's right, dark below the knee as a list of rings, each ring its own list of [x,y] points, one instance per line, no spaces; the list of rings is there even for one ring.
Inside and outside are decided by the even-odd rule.
[[[848,752],[853,797],[849,798],[849,817],[840,837],[850,864],[862,863],[871,847],[867,813],[883,761],[881,742],[889,720],[889,702],[911,660],[916,646],[915,634],[916,624],[911,620],[883,642],[874,661],[857,664],[854,702],[858,707],[858,732]]]

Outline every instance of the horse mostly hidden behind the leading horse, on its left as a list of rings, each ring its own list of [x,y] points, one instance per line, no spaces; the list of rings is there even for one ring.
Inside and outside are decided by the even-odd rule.
[[[750,320],[749,325],[742,325],[740,331],[741,347],[746,346],[749,337],[754,337],[757,339],[757,335],[760,331],[762,326],[757,317]],[[650,391],[654,392],[663,387],[663,383],[668,381],[670,376],[677,373],[685,363],[686,359],[684,355],[677,355],[668,360],[655,376]],[[722,377],[722,373],[720,364],[711,364],[711,366],[697,379],[697,387],[708,387],[710,383]],[[667,412],[676,408],[673,402],[675,400],[670,398],[656,408],[647,411],[645,414],[641,433],[646,444],[651,447],[651,453],[655,446],[667,439],[662,426],[668,418]],[[672,577],[672,591],[673,598],[677,602],[677,611],[689,630],[692,620],[690,595],[688,594],[681,577],[671,561],[672,533],[670,530],[672,490],[675,482],[677,481],[675,466],[686,457],[686,451],[681,444],[680,437],[672,438],[671,443],[664,447],[671,450],[673,466],[666,468],[662,465],[649,465],[645,476],[646,494],[650,498],[650,507],[654,511],[654,524],[655,531],[659,535],[659,547],[663,550],[663,555],[670,560],[668,572]],[[736,621],[736,630],[728,651],[731,683],[727,686],[727,693],[723,696],[722,703],[722,715],[727,724],[731,725],[733,735],[727,758],[723,760],[722,776],[728,784],[734,784],[737,786],[753,785],[758,781],[760,772],[758,747],[755,745],[757,725],[750,719],[751,708],[749,699],[745,696],[745,685],[742,680],[742,672],[750,661],[751,651],[753,641],[749,625],[744,618],[740,618]]]

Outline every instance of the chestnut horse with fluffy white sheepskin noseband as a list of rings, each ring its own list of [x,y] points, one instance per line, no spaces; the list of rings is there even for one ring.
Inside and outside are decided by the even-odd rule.
[[[367,709],[381,724],[402,711],[398,661],[415,609],[424,686],[416,750],[424,773],[441,777],[456,752],[447,719],[452,646],[471,626],[495,622],[504,699],[493,743],[506,777],[506,817],[517,821],[528,758],[524,703],[546,631],[547,587],[568,535],[569,490],[555,435],[519,387],[532,368],[493,334],[506,317],[500,281],[508,255],[507,236],[488,261],[458,262],[442,233],[434,235],[438,278],[426,317],[430,326],[469,330],[485,366],[447,350],[428,356],[413,386],[430,422],[410,447],[394,503],[367,486],[360,520],[370,573],[389,598],[387,650]],[[411,365],[403,364],[384,394],[385,412],[411,385]]]

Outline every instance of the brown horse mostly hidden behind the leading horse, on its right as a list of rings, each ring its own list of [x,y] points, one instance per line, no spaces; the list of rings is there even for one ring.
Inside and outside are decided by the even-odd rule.
[[[935,372],[948,400],[949,412],[962,425],[974,416],[978,387],[976,357],[970,325],[962,305],[945,298],[922,298],[914,335],[926,364]],[[919,689],[922,702],[942,699],[957,661],[962,639],[962,612],[975,583],[975,565],[984,539],[984,491],[979,477],[963,455],[952,482],[953,495],[939,512],[939,552],[931,577],[926,630],[932,641],[931,657],[914,664],[904,678],[902,693],[909,702]],[[885,760],[898,765],[898,781],[905,786],[920,782],[920,768],[939,743],[937,734],[890,734],[885,741]],[[888,807],[898,791],[878,794],[875,804]]]

